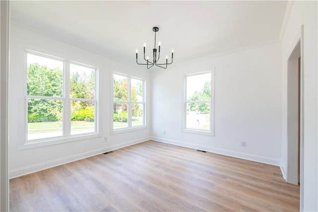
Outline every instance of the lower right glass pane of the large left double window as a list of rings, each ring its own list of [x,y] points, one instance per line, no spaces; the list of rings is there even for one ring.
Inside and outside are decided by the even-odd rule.
[[[71,135],[95,132],[94,102],[71,101]]]

